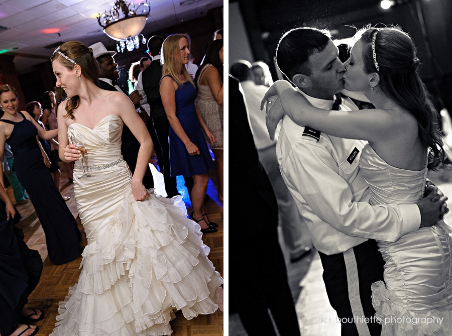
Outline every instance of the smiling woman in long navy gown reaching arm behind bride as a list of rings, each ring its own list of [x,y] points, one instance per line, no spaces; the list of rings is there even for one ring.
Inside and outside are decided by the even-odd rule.
[[[26,112],[18,111],[18,94],[10,85],[0,85],[0,159],[7,142],[14,154],[14,168],[27,190],[46,235],[49,259],[56,265],[68,263],[80,255],[80,231],[77,222],[53,182],[44,164],[37,136],[50,140],[58,130],[45,131]],[[0,182],[3,182],[3,166]]]

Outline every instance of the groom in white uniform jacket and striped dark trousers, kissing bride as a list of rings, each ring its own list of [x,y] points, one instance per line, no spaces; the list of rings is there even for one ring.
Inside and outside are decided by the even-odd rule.
[[[346,69],[328,31],[287,32],[279,41],[276,61],[313,106],[358,109],[338,95]],[[342,321],[343,336],[381,333],[371,299],[371,284],[383,280],[384,266],[375,239],[394,242],[437,220],[424,210],[427,198],[417,205],[369,204],[369,187],[358,165],[365,144],[300,127],[290,118],[283,119],[277,142],[281,174],[319,252],[326,292]]]

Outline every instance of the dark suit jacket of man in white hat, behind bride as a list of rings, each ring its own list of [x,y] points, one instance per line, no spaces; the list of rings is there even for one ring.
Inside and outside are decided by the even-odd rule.
[[[108,91],[118,91],[115,86],[99,80],[99,87]],[[140,150],[140,142],[134,137],[131,130],[126,124],[123,126],[123,135],[121,137],[121,153],[124,160],[129,165],[132,174],[135,172],[137,166],[138,151]],[[152,172],[149,165],[146,168],[145,175],[143,177],[143,184],[146,189],[154,188],[154,179],[152,178]]]

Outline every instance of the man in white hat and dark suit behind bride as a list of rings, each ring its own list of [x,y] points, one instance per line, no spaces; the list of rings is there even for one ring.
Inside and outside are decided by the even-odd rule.
[[[92,54],[100,65],[100,88],[108,91],[120,91],[124,93],[117,82],[117,79],[119,78],[118,64],[115,63],[115,59],[113,58],[113,56],[116,55],[116,51],[107,50],[102,42],[94,43],[90,45],[89,48],[92,49]],[[139,104],[140,100],[143,99],[138,90],[133,91],[129,95],[129,98],[132,100],[134,105]],[[140,143],[126,125],[123,126],[123,135],[121,140],[121,152],[133,174],[137,165]],[[145,176],[143,177],[143,184],[146,189],[154,188],[154,179],[152,178],[149,165],[146,169]]]

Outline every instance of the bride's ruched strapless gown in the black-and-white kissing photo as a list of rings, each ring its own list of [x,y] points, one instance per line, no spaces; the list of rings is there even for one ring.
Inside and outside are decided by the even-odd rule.
[[[422,198],[427,167],[420,171],[395,168],[366,145],[360,168],[370,185],[372,205],[417,203]],[[394,243],[378,242],[386,262],[385,282],[372,285],[372,302],[383,324],[382,336],[452,335],[449,233],[448,226],[438,221]]]

